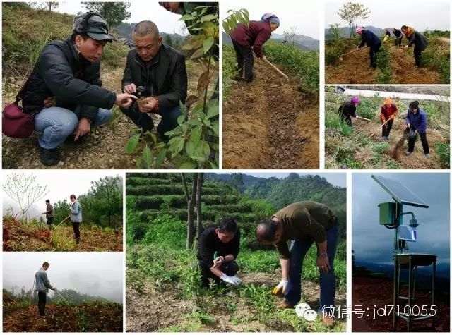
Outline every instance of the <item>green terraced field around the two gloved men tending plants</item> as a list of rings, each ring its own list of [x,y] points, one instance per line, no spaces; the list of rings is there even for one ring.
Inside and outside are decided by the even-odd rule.
[[[184,204],[174,205],[182,191],[179,178],[176,174],[158,173],[127,176],[127,331],[345,331],[345,320],[327,328],[319,319],[300,319],[295,310],[275,309],[275,304],[283,301],[271,295],[281,276],[278,255],[273,247],[263,248],[254,238],[256,221],[273,214],[275,208],[212,181],[204,185],[203,225],[227,215],[237,219],[242,236],[238,276],[243,284],[202,290],[196,249],[185,248]],[[147,200],[153,207],[148,210],[143,205],[148,199],[145,188],[154,194],[152,200]],[[346,300],[345,252],[342,240],[335,259],[337,305],[344,305]],[[318,277],[313,247],[304,260],[302,300],[314,310],[319,307]]]

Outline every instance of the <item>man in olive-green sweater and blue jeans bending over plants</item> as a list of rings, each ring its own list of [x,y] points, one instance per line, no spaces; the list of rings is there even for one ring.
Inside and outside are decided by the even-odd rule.
[[[317,245],[317,267],[320,273],[319,313],[323,315],[326,307],[334,306],[338,218],[333,210],[319,202],[295,202],[280,209],[271,219],[261,221],[256,227],[256,238],[264,245],[275,245],[279,253],[283,278],[273,293],[283,293],[285,302],[278,308],[293,308],[299,303],[303,260],[314,242]],[[290,248],[287,241],[290,241]],[[323,322],[331,324],[333,319],[323,315]]]

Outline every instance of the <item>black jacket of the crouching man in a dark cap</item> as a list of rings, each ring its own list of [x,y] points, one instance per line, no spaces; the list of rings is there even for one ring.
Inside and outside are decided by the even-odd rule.
[[[84,59],[70,38],[50,42],[33,68],[22,102],[24,111],[39,112],[44,99],[56,97],[57,107],[74,111],[81,105],[78,117],[94,120],[99,108],[111,109],[116,100],[116,94],[101,85],[100,61]]]

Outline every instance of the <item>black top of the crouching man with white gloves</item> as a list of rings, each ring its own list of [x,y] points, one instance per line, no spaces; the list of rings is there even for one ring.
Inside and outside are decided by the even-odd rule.
[[[216,226],[206,228],[199,237],[197,258],[205,267],[213,267],[213,256],[215,251],[218,256],[233,255],[237,258],[240,251],[240,231],[237,230],[234,238],[228,243],[222,243],[215,233]]]

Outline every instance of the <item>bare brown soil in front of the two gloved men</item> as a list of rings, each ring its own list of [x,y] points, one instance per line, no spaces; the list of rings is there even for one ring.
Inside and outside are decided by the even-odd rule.
[[[266,285],[270,290],[279,278],[275,274],[254,273],[240,274],[244,284],[256,286]],[[143,292],[138,293],[132,288],[126,288],[126,331],[132,332],[155,332],[174,331],[168,327],[184,328],[190,319],[186,315],[198,309],[193,300],[181,300],[177,297],[180,287],[165,288],[158,291],[156,286],[145,283]],[[319,308],[319,285],[304,282],[302,288],[302,299],[309,303],[314,310]],[[256,311],[253,306],[247,305],[244,298],[240,298],[234,291],[227,291],[222,298],[207,296],[201,304],[203,309],[208,308],[208,314],[213,318],[212,324],[200,324],[199,328],[191,331],[199,332],[290,332],[294,331],[292,326],[275,321],[273,324],[262,324],[254,317]],[[283,298],[275,298],[279,303]],[[336,305],[345,305],[346,294],[344,291],[336,293]],[[230,310],[229,304],[236,307]],[[209,306],[209,307],[206,307]],[[242,322],[234,322],[240,319]],[[345,331],[345,319],[338,320],[343,331]]]

